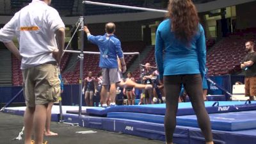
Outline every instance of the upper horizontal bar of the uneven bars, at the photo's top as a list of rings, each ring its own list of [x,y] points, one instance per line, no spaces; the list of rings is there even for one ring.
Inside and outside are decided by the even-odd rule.
[[[141,8],[137,6],[125,6],[120,4],[110,4],[110,3],[99,3],[99,2],[93,2],[93,1],[83,1],[84,4],[93,4],[93,5],[99,5],[99,6],[111,6],[116,8],[127,8],[132,10],[144,10],[144,11],[150,11],[150,12],[160,12],[160,13],[166,13],[167,10],[157,10],[153,8]]]

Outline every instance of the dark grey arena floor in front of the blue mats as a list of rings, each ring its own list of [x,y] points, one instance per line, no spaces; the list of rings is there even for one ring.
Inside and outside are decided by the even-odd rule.
[[[23,127],[23,117],[0,113],[0,144],[18,144],[24,143],[23,140],[13,140],[19,135]],[[148,140],[137,136],[131,136],[122,133],[101,131],[99,129],[88,129],[79,126],[70,126],[52,122],[51,129],[57,132],[58,136],[45,137],[49,144],[159,144],[163,141]],[[77,132],[88,132],[81,134]],[[95,133],[90,133],[93,131]]]

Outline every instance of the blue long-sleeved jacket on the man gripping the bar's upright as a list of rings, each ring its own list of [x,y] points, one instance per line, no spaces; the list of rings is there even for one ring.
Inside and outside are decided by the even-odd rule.
[[[115,35],[89,35],[88,40],[98,45],[100,50],[100,68],[118,68],[118,58],[124,58],[121,42]]]

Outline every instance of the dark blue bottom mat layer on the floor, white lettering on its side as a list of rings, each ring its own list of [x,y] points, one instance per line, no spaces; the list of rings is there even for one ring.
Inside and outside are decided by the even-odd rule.
[[[68,114],[67,114],[68,115]],[[152,140],[164,141],[164,125],[140,120],[82,116],[83,125],[106,131],[124,132]],[[256,129],[246,131],[218,131],[213,130],[214,144],[246,143],[255,144]],[[199,128],[177,125],[173,134],[173,143],[177,144],[205,144],[204,136]]]

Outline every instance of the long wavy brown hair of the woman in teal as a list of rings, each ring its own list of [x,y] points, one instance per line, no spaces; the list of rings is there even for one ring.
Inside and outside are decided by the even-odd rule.
[[[191,0],[170,0],[166,15],[172,20],[171,31],[181,42],[189,44],[198,31],[199,18]]]

